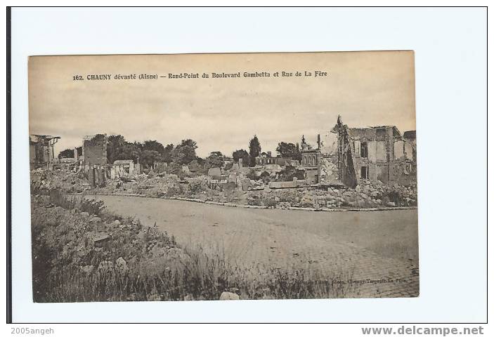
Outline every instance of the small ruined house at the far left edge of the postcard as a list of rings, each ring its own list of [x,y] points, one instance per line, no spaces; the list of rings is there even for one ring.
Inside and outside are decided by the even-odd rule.
[[[53,147],[59,139],[59,136],[30,135],[30,169],[53,169]]]

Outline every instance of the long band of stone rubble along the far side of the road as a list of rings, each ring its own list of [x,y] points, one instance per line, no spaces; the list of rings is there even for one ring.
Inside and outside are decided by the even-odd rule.
[[[89,183],[82,174],[68,171],[31,173],[33,194],[52,189],[86,192]],[[336,185],[330,185],[336,186]],[[104,187],[91,190],[100,194],[140,194],[146,197],[186,198],[221,204],[290,209],[382,208],[417,206],[417,187],[360,180],[355,189],[347,187],[270,188],[262,180],[249,180],[249,189],[235,183],[212,185],[207,176],[180,180],[176,174],[140,173],[106,180]]]

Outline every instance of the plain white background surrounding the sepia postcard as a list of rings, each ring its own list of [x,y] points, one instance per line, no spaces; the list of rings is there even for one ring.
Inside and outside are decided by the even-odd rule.
[[[13,322],[485,322],[486,29],[484,8],[14,8]],[[415,50],[419,298],[32,303],[29,55],[396,49]]]

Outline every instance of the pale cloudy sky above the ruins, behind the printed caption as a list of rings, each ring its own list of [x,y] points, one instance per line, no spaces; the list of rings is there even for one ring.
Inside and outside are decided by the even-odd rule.
[[[243,77],[244,72],[327,72],[327,77]],[[235,79],[169,79],[168,74],[240,72]],[[74,75],[83,81],[74,81]],[[89,81],[90,74],[111,80]],[[113,79],[157,74],[158,79]],[[30,133],[60,136],[56,151],[96,133],[164,145],[192,138],[197,154],[263,151],[301,135],[316,143],[338,114],[351,127],[396,125],[415,130],[411,51],[32,57]],[[160,77],[164,76],[164,78]],[[329,140],[328,140],[329,142]]]

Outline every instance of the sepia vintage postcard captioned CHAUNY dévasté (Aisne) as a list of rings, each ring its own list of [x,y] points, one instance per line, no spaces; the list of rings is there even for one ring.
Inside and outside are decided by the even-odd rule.
[[[32,56],[29,110],[34,302],[419,296],[413,51]]]

